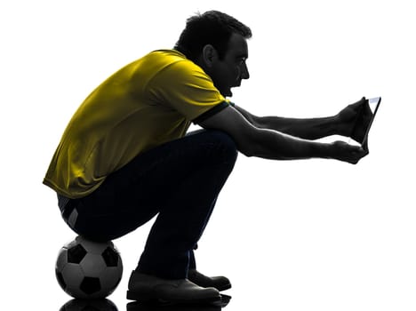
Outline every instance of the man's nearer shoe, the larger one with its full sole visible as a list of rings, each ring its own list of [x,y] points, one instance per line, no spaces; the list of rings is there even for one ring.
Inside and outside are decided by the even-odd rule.
[[[153,275],[132,271],[127,299],[159,300],[173,303],[204,303],[221,299],[215,288],[204,288],[188,279],[167,280]]]

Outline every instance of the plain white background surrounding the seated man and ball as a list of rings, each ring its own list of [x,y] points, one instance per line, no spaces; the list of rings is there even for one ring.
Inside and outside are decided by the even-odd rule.
[[[54,264],[75,235],[42,185],[70,116],[209,9],[252,28],[251,78],[233,97],[252,113],[330,116],[362,96],[383,100],[357,165],[239,156],[200,241],[200,270],[231,279],[229,310],[415,310],[416,10],[404,0],[2,2],[2,305],[57,310],[70,299]],[[115,241],[120,310],[149,225]]]

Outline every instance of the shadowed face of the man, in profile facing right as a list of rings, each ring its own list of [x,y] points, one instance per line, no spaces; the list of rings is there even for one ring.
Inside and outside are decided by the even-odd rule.
[[[222,60],[217,60],[210,73],[215,87],[224,97],[231,97],[232,87],[240,86],[242,79],[250,77],[245,60],[248,58],[247,41],[244,36],[233,34],[228,42],[228,51]]]

